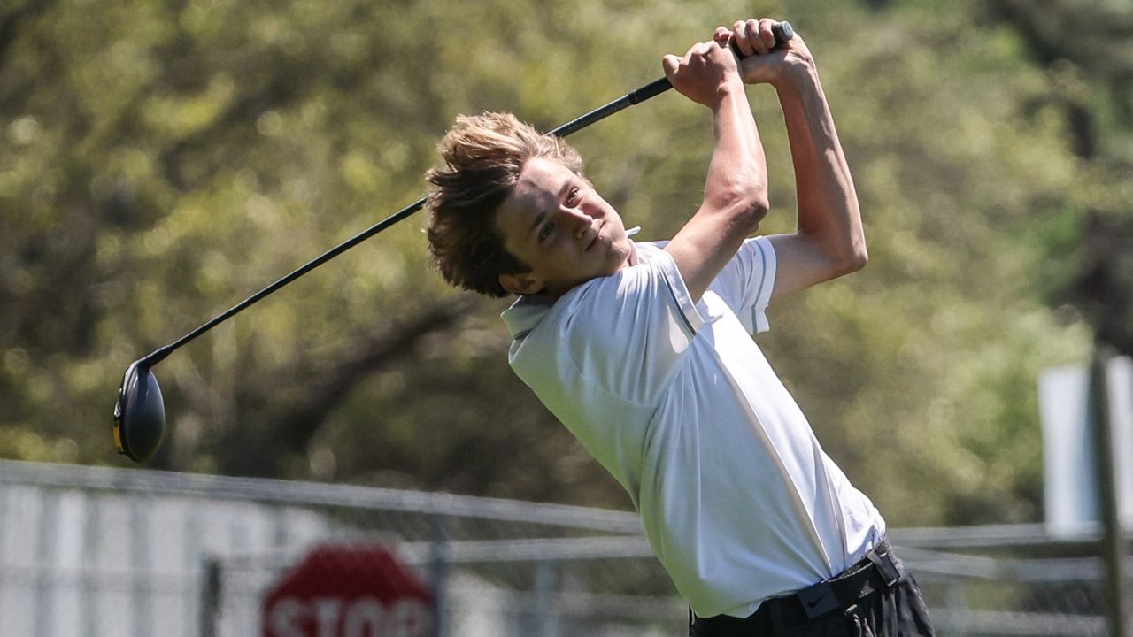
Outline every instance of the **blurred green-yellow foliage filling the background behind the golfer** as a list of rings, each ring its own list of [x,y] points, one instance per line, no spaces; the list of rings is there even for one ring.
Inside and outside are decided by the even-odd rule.
[[[165,474],[73,467],[135,468],[110,417],[131,360],[418,198],[458,113],[550,129],[763,15],[816,56],[871,261],[773,307],[760,347],[893,528],[1045,538],[1039,377],[1098,345],[1133,354],[1133,6],[1119,0],[0,0],[0,458],[19,461],[6,479],[40,494],[28,502],[90,481],[168,496],[139,486]],[[790,231],[782,116],[772,90],[749,96],[765,230]],[[680,95],[571,143],[639,239],[696,210],[710,120]],[[147,468],[631,510],[509,371],[508,301],[429,269],[426,222],[162,363],[167,435]],[[227,496],[262,498],[239,485]],[[0,507],[0,525],[20,507]],[[1089,552],[1075,546],[1048,552]],[[1067,612],[1102,613],[1091,591]]]

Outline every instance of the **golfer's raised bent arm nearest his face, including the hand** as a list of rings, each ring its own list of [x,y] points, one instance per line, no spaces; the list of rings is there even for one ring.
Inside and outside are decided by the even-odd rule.
[[[673,87],[713,113],[715,146],[704,202],[665,248],[695,301],[767,214],[764,148],[729,36],[717,29],[713,42],[693,45],[683,58],[662,60]]]

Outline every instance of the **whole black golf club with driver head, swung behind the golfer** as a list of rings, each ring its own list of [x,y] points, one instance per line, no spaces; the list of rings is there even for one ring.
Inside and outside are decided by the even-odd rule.
[[[794,37],[794,31],[791,28],[790,23],[778,23],[772,31],[775,33],[775,41],[777,44],[782,44]],[[730,44],[733,53],[742,59],[743,56],[736,48],[735,42],[732,41]],[[587,126],[590,126],[591,124],[595,124],[596,121],[600,121],[617,111],[625,109],[627,107],[639,104],[655,95],[668,91],[672,87],[673,85],[668,82],[668,78],[662,77],[627,93],[613,102],[599,107],[577,119],[568,121],[566,124],[552,130],[550,134],[557,137],[565,137],[586,128]],[[353,237],[350,237],[349,239],[326,250],[320,256],[310,260],[290,274],[287,274],[282,279],[249,296],[224,313],[210,320],[205,324],[177,339],[176,341],[131,363],[130,366],[126,368],[126,373],[122,375],[122,383],[118,388],[118,402],[114,405],[114,447],[118,448],[118,452],[127,456],[135,462],[145,462],[157,452],[157,448],[161,444],[161,438],[165,428],[165,404],[161,397],[161,388],[157,384],[157,379],[153,375],[152,368],[154,365],[164,360],[167,356],[193,339],[215,328],[220,323],[228,321],[264,297],[275,292],[299,277],[303,277],[307,272],[310,272],[361,241],[414,214],[424,206],[425,198],[421,197],[382,221],[378,221],[374,226],[370,226]]]

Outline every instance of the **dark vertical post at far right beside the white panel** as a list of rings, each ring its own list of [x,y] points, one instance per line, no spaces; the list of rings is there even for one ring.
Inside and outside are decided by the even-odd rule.
[[[1125,609],[1124,534],[1117,511],[1117,487],[1114,473],[1114,435],[1109,418],[1109,383],[1106,367],[1113,354],[1099,345],[1090,370],[1090,424],[1093,427],[1098,455],[1098,504],[1101,509],[1102,537],[1100,553],[1106,564],[1106,592],[1109,605],[1110,637],[1127,637]]]

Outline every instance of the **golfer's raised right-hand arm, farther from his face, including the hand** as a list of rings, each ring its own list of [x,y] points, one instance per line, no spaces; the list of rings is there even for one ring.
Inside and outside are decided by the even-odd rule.
[[[858,194],[813,57],[798,34],[773,50],[773,24],[736,23],[733,36],[750,56],[740,63],[743,80],[770,84],[778,93],[794,163],[798,226],[770,237],[776,298],[860,270],[868,256]]]

